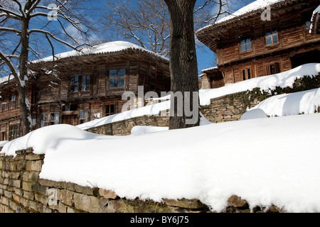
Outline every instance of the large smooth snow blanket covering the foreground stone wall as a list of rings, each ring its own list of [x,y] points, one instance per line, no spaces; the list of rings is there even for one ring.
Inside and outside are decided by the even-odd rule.
[[[33,131],[1,153],[46,154],[41,179],[100,187],[127,199],[200,199],[215,211],[236,194],[254,206],[320,211],[320,114],[259,118],[143,135],[74,126]]]

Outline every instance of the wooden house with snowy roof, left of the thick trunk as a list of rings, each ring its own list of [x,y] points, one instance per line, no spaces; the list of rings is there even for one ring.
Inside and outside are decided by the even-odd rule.
[[[95,118],[122,112],[127,99],[124,92],[138,97],[144,94],[169,92],[169,60],[132,43],[116,41],[84,48],[81,52],[63,52],[37,60],[29,65],[29,99],[33,128],[67,123],[73,126]],[[0,84],[3,109],[0,113],[1,140],[10,136],[11,125],[20,127],[20,113],[14,80]],[[6,107],[6,103],[9,107]],[[11,106],[15,103],[16,108]],[[12,115],[14,113],[14,116]],[[12,129],[14,130],[14,129]]]

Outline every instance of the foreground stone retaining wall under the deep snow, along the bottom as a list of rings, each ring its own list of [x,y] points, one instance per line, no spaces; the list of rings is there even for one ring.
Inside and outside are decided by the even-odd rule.
[[[33,149],[19,150],[16,157],[0,154],[0,213],[210,213],[198,199],[162,199],[161,202],[122,199],[112,191],[81,187],[70,182],[40,179],[45,155]],[[250,212],[247,201],[228,199],[225,212]],[[282,212],[275,206],[254,212]]]

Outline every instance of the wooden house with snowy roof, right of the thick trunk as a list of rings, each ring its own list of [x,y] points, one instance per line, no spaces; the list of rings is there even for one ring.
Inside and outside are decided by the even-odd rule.
[[[217,55],[203,89],[320,62],[318,0],[257,0],[196,32]]]

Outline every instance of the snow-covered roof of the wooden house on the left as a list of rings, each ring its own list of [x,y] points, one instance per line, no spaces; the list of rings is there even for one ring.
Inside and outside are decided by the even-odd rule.
[[[161,56],[155,52],[152,52],[151,50],[146,50],[145,48],[142,48],[139,45],[136,45],[134,43],[129,43],[126,41],[113,41],[108,43],[102,43],[100,45],[95,45],[90,48],[82,48],[80,51],[71,50],[68,52],[62,52],[60,54],[55,55],[55,57],[57,57],[58,60],[60,60],[67,57],[106,54],[106,53],[112,53],[112,52],[122,52],[124,50],[140,50],[142,52],[147,52],[151,55],[155,55],[156,57],[160,57],[164,60],[169,60],[167,57]],[[52,60],[53,60],[53,56],[49,56],[49,57],[44,57],[41,60],[35,60],[32,63],[50,62]]]

